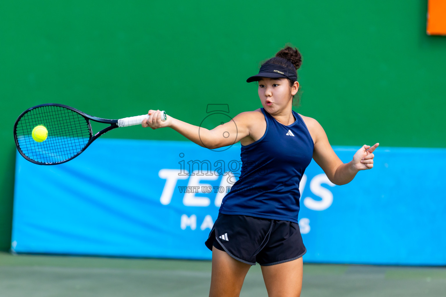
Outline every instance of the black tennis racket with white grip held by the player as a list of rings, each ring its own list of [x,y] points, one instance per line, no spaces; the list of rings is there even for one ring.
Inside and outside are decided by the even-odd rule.
[[[161,119],[166,114],[161,111]],[[40,165],[56,165],[76,158],[104,133],[118,127],[140,125],[148,114],[119,120],[93,117],[73,107],[62,104],[42,104],[25,110],[14,124],[17,150],[28,161]],[[110,124],[92,134],[90,121]],[[33,138],[34,128],[44,126],[44,140]],[[45,129],[42,128],[42,129]],[[34,137],[35,134],[34,134]]]

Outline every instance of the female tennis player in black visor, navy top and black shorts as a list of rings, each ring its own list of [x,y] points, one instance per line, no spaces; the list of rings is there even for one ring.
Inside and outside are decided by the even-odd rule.
[[[251,265],[261,265],[268,296],[300,296],[302,242],[297,215],[299,183],[311,158],[332,183],[349,183],[360,170],[373,167],[373,151],[364,145],[343,163],[328,142],[322,126],[292,110],[299,90],[297,69],[301,54],[285,47],[264,62],[258,74],[262,108],[238,114],[207,130],[167,117],[159,110],[143,127],[171,127],[200,146],[215,149],[240,141],[242,170],[224,197],[206,246],[212,250],[209,296],[239,296]],[[199,132],[198,132],[199,131]]]

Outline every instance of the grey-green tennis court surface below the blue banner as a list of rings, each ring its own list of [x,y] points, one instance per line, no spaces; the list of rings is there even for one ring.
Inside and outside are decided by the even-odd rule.
[[[208,296],[210,281],[210,261],[0,252],[0,297],[197,297]],[[240,296],[268,296],[258,264]],[[301,296],[444,297],[446,268],[304,264]]]

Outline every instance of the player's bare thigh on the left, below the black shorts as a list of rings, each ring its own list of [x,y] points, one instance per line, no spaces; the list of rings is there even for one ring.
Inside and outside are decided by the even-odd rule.
[[[250,268],[250,264],[235,260],[227,252],[212,247],[212,275],[209,296],[239,296],[246,273]]]

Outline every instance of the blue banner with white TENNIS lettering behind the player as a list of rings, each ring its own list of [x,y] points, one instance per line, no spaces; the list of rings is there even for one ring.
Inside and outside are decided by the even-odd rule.
[[[349,162],[360,146],[334,147]],[[98,139],[54,166],[17,154],[12,250],[211,259],[205,245],[240,175],[240,144]],[[446,264],[446,149],[378,147],[372,170],[331,183],[314,162],[302,178],[306,262]]]

